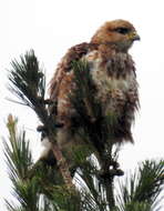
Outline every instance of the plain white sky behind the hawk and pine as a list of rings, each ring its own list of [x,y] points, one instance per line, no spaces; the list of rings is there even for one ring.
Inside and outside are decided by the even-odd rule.
[[[40,141],[34,113],[6,100],[7,69],[10,61],[34,49],[47,69],[48,81],[73,44],[89,41],[107,20],[131,21],[141,36],[131,49],[140,83],[141,111],[134,125],[135,144],[126,144],[120,154],[122,169],[129,170],[144,159],[163,158],[164,144],[164,1],[163,0],[1,0],[0,1],[0,137],[7,137],[8,113],[19,117],[24,125],[34,158]],[[10,94],[10,97],[12,97]],[[2,142],[2,141],[1,141]],[[2,198],[9,198],[10,183],[0,142],[0,210]]]

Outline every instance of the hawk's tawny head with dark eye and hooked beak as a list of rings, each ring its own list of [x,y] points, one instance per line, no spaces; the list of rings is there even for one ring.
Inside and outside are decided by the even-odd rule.
[[[140,40],[135,28],[125,20],[105,22],[91,39],[92,43],[113,43],[120,51],[127,51],[135,40]]]

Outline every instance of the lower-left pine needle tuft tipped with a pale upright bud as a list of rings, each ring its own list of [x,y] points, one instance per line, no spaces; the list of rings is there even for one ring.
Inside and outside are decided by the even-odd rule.
[[[25,132],[17,132],[17,119],[11,114],[8,117],[9,143],[4,140],[4,155],[10,170],[9,175],[12,181],[23,180],[32,165],[32,155],[29,149],[29,141],[25,140]]]

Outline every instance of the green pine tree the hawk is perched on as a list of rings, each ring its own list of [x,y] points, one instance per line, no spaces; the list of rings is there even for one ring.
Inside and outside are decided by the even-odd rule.
[[[9,143],[4,141],[4,154],[13,184],[12,194],[18,204],[7,201],[9,211],[157,210],[164,184],[163,160],[144,161],[133,174],[126,177],[125,182],[120,182],[115,191],[114,178],[124,173],[117,163],[119,147],[109,144],[106,139],[113,135],[112,127],[116,118],[112,113],[106,119],[102,118],[101,103],[93,98],[88,63],[72,62],[78,89],[70,99],[79,113],[79,118],[72,121],[74,125],[81,124],[80,135],[89,145],[89,149],[76,149],[72,154],[79,167],[74,177],[57,143],[57,122],[48,111],[51,101],[44,99],[45,76],[34,52],[27,52],[20,61],[13,60],[11,64],[10,91],[19,98],[19,103],[34,110],[42,123],[39,130],[47,128],[57,164],[33,163],[25,131],[19,131],[18,120],[10,114],[7,123]],[[83,76],[85,80],[82,80]],[[95,153],[90,154],[90,149]],[[96,160],[96,153],[101,157],[101,163]]]

